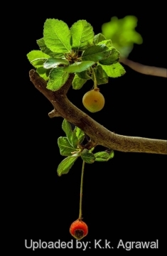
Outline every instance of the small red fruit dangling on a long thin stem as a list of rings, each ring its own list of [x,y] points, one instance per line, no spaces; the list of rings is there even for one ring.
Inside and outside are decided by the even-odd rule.
[[[77,240],[81,240],[84,238],[88,233],[87,224],[77,219],[70,225],[70,234],[76,238]]]

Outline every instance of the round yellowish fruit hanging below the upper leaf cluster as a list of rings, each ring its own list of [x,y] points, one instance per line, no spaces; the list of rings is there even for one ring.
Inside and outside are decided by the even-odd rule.
[[[99,92],[99,89],[95,88],[94,90],[85,93],[82,98],[82,103],[87,110],[94,113],[102,110],[105,100],[102,93]]]

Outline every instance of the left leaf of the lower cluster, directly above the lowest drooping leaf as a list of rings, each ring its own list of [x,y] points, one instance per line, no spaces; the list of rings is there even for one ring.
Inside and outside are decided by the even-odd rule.
[[[72,147],[67,137],[59,137],[58,146],[62,156],[71,156],[71,152],[77,151],[77,149]]]

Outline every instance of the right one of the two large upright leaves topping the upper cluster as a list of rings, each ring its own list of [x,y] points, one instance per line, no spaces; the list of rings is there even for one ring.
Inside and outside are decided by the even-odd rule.
[[[72,48],[77,50],[85,50],[87,46],[93,43],[93,28],[85,20],[75,22],[70,28],[72,36]]]

